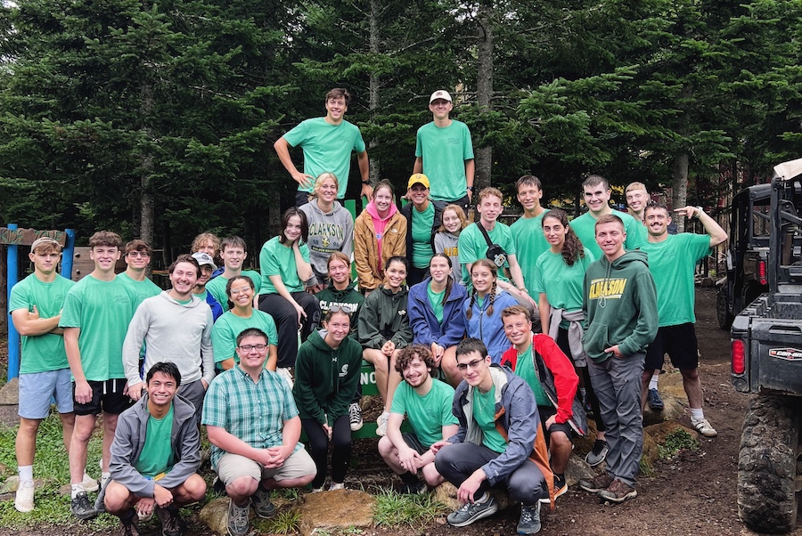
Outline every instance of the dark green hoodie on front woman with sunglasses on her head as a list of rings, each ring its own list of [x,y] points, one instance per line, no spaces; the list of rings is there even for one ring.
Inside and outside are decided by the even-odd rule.
[[[326,344],[326,330],[313,331],[298,350],[292,394],[300,418],[334,426],[348,413],[362,368],[362,346],[345,337],[337,349]],[[327,422],[328,421],[328,422]]]

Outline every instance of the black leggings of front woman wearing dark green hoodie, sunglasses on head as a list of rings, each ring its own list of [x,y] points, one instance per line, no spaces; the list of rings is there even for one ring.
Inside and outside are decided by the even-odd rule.
[[[329,452],[329,438],[323,432],[323,426],[314,418],[302,418],[301,426],[309,440],[309,454],[315,460],[317,475],[312,481],[313,488],[319,488],[326,483],[326,455]],[[342,483],[351,463],[351,426],[348,415],[343,415],[334,421],[331,433],[331,482]]]

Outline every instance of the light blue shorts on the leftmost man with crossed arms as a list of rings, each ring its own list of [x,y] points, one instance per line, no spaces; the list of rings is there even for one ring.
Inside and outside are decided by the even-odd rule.
[[[59,413],[72,413],[72,378],[70,369],[46,370],[20,374],[21,418],[47,418],[55,399]]]

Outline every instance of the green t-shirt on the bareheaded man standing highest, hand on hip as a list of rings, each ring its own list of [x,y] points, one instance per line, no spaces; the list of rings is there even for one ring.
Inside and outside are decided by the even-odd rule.
[[[348,121],[340,125],[326,123],[325,118],[312,118],[282,136],[292,147],[304,150],[304,173],[317,177],[331,172],[340,188],[337,199],[344,199],[351,170],[351,151],[364,152],[364,140],[359,128]],[[315,182],[314,180],[312,181]],[[312,185],[299,186],[299,191],[312,191]],[[270,293],[268,293],[270,294]]]

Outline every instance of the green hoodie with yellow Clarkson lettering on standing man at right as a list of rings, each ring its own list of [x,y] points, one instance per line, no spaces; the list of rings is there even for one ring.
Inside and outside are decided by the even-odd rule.
[[[610,264],[607,257],[585,272],[582,344],[593,361],[606,361],[606,348],[618,345],[622,355],[645,352],[658,331],[657,292],[646,254],[627,251]]]

